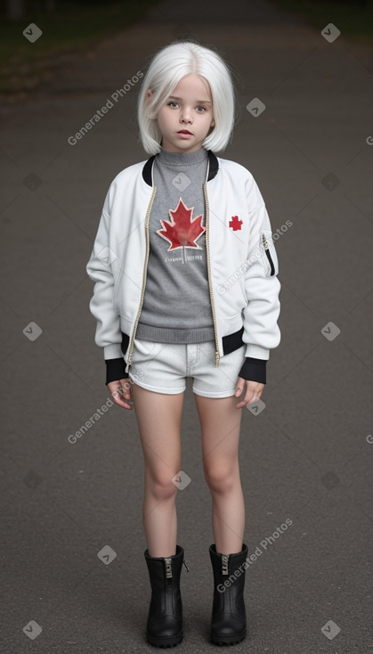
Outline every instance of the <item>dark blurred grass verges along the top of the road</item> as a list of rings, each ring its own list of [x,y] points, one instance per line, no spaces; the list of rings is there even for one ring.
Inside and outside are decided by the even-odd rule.
[[[100,39],[114,35],[140,20],[159,0],[3,0],[0,7],[0,90],[22,97],[48,71],[63,64],[63,55],[84,51]],[[246,2],[255,7],[255,2]],[[371,42],[373,38],[372,0],[272,0],[281,12],[292,12],[314,27],[328,22],[330,14],[345,36]],[[227,13],[230,13],[228,8]],[[187,13],[187,8],[186,12]],[[213,18],[213,16],[211,17]],[[36,22],[44,38],[30,51],[20,34],[22,23]]]

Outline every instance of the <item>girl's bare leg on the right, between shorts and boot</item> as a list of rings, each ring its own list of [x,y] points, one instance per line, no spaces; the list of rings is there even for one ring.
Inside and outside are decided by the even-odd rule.
[[[212,497],[216,552],[241,552],[245,503],[239,478],[239,430],[242,409],[237,397],[195,394],[202,435],[203,468]]]

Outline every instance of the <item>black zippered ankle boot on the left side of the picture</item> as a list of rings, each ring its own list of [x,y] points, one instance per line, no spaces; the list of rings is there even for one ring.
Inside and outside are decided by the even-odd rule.
[[[176,545],[176,553],[170,557],[152,557],[144,552],[149,570],[151,600],[146,636],[150,645],[174,647],[182,642],[182,595],[180,575],[184,551]]]

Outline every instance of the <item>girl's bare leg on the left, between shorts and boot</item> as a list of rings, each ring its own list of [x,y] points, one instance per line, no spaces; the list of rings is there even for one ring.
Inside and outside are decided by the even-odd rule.
[[[150,556],[173,556],[177,486],[172,478],[181,469],[184,394],[154,393],[134,384],[132,396],[145,465],[142,521],[146,542]]]

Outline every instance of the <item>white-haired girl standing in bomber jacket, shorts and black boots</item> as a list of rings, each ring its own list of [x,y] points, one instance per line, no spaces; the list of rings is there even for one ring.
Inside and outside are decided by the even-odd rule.
[[[158,647],[182,642],[187,566],[176,544],[175,500],[187,479],[180,448],[187,377],[212,496],[211,638],[233,644],[247,634],[239,429],[242,408],[262,396],[270,349],[280,343],[280,282],[254,177],[215,155],[231,138],[235,94],[231,70],[212,48],[174,42],[155,54],[138,97],[150,158],[110,184],[86,266],[106,384],[116,404],[134,405],[142,442],[147,639]]]

